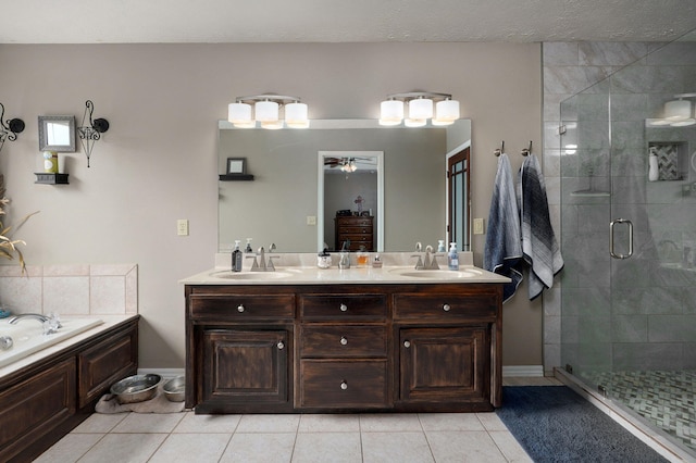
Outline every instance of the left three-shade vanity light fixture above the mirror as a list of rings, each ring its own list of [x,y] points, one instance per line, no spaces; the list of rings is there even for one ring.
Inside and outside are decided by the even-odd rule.
[[[253,117],[251,107],[253,105]],[[281,108],[285,113],[285,124],[281,118]],[[307,128],[309,127],[308,107],[298,97],[284,95],[257,95],[237,97],[227,108],[227,120],[238,128]]]

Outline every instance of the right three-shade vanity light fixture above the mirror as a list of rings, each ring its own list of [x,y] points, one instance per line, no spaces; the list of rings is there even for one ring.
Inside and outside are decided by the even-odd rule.
[[[405,103],[409,107],[406,118]],[[450,125],[459,118],[459,101],[452,100],[449,93],[431,91],[387,95],[380,110],[380,125],[399,125],[403,121],[407,127],[422,127],[427,120],[433,125]]]

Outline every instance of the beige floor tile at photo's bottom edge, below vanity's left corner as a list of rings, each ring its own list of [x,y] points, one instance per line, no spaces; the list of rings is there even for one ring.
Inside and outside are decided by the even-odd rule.
[[[216,462],[231,438],[232,434],[172,434],[148,463]]]

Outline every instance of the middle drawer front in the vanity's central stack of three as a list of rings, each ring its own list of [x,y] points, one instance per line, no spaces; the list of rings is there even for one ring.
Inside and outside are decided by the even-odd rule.
[[[302,327],[300,355],[303,358],[386,356],[385,326]]]

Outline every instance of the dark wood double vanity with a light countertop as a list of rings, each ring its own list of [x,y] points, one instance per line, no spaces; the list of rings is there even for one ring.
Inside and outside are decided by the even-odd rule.
[[[502,284],[475,267],[183,280],[196,413],[474,412],[501,401]]]

